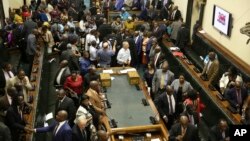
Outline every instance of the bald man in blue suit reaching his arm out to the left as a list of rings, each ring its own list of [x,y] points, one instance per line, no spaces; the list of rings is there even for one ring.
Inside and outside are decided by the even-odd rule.
[[[32,129],[36,133],[53,131],[52,141],[72,141],[72,130],[67,122],[68,113],[64,110],[58,111],[56,121],[47,126]]]

